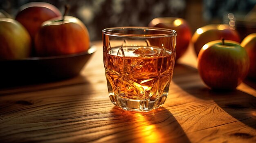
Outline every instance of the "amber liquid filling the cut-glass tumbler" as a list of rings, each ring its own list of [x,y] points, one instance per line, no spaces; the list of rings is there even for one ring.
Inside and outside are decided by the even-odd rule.
[[[153,52],[136,54],[136,46],[111,48],[103,53],[109,96],[125,110],[148,111],[162,106],[173,75],[171,51],[150,47]],[[160,56],[159,56],[160,55]]]

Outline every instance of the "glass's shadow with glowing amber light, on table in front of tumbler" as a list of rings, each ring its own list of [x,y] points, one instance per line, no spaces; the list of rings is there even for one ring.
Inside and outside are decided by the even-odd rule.
[[[131,112],[114,107],[110,120],[115,125],[110,142],[190,143],[180,124],[166,108]]]

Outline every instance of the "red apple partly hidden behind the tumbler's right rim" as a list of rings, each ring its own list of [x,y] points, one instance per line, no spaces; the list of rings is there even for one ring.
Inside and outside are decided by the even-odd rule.
[[[177,32],[176,37],[176,60],[186,52],[191,40],[191,29],[183,18],[163,17],[155,18],[148,24],[149,27],[173,29]]]

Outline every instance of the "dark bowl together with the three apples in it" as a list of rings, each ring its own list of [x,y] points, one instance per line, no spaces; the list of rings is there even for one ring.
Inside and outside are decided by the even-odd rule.
[[[0,18],[1,84],[54,81],[80,73],[96,47],[90,45],[83,22],[66,11],[61,16],[52,4],[31,2],[16,19]]]

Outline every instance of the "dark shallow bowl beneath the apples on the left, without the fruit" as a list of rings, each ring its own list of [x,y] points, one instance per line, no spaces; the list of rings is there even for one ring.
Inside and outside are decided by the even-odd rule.
[[[20,60],[0,61],[0,86],[16,86],[56,81],[74,77],[96,51],[52,57],[29,57]]]

